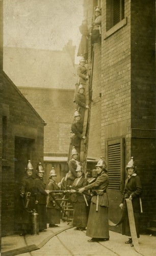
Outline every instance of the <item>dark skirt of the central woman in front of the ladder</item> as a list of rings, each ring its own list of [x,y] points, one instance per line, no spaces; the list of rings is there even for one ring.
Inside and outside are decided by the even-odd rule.
[[[86,202],[76,202],[73,210],[73,226],[86,227],[87,226],[87,209]]]

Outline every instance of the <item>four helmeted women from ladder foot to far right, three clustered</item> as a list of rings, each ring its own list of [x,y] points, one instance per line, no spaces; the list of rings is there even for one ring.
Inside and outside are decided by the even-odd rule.
[[[69,161],[69,175],[67,174],[67,183],[72,184],[71,200],[74,203],[73,211],[73,226],[75,230],[85,230],[86,236],[91,239],[88,242],[108,241],[109,240],[109,219],[108,219],[108,185],[109,177],[107,174],[106,162],[100,159],[95,165],[97,177],[91,183],[83,175],[83,168],[81,164],[77,165],[77,153],[75,148],[72,151],[72,159]],[[128,211],[125,199],[132,201],[133,214],[136,227],[137,237],[139,238],[139,221],[140,213],[142,212],[141,193],[142,185],[139,176],[137,175],[136,163],[131,158],[131,161],[126,165],[127,179],[125,180],[125,187],[123,190],[121,204],[119,207],[123,209],[122,212],[122,234],[131,236],[129,226]],[[72,179],[70,179],[73,175]],[[77,178],[75,178],[77,175]],[[91,202],[88,195],[91,194]],[[89,209],[87,210],[87,207]],[[88,215],[89,212],[89,215]],[[133,247],[133,240],[129,238],[125,244],[131,244]]]

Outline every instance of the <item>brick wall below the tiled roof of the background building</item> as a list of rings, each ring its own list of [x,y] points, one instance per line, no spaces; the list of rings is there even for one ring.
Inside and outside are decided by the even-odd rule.
[[[44,155],[68,154],[70,127],[75,103],[73,90],[20,88],[35,110],[47,123],[44,128]]]

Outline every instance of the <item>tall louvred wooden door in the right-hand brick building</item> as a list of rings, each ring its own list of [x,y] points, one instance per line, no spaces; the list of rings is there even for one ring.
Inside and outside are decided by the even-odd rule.
[[[108,141],[107,151],[109,219],[118,223],[122,215],[119,205],[124,188],[124,138]],[[110,226],[110,230],[121,233],[122,225]]]

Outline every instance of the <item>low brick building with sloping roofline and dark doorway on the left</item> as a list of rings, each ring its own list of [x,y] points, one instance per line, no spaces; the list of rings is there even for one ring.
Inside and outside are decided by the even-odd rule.
[[[30,159],[43,162],[45,122],[3,71],[3,1],[0,1],[1,236],[17,230],[19,181]]]

